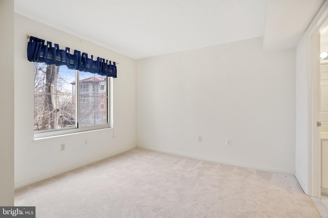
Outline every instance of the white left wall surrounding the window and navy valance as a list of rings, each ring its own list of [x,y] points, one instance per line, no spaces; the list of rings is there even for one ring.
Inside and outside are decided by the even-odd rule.
[[[86,27],[87,28],[87,27]],[[33,140],[33,63],[26,34],[116,62],[114,128]],[[8,93],[11,93],[10,91]],[[136,147],[136,60],[15,14],[15,187]],[[84,146],[88,139],[88,146]],[[66,151],[60,151],[66,143]]]

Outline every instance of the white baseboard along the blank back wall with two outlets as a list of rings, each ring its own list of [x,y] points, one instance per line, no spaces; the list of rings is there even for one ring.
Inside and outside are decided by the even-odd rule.
[[[179,156],[185,156],[185,157],[190,157],[190,158],[195,158],[195,159],[200,159],[200,160],[207,160],[207,161],[212,161],[212,162],[217,162],[217,163],[222,163],[222,164],[254,168],[254,169],[259,169],[261,171],[271,171],[271,172],[275,172],[275,173],[282,173],[282,174],[288,174],[288,175],[295,176],[294,171],[285,171],[284,169],[260,166],[260,165],[249,164],[249,163],[241,163],[241,162],[236,162],[236,161],[223,160],[223,159],[218,159],[218,158],[213,158],[213,157],[193,155],[193,154],[176,152],[176,151],[169,151],[169,150],[165,150],[165,149],[154,149],[154,148],[149,148],[149,147],[145,147],[145,146],[137,146],[137,148],[148,149],[148,150],[158,151],[158,152],[163,152],[163,153],[168,153],[168,154],[175,154],[175,155],[179,155]]]

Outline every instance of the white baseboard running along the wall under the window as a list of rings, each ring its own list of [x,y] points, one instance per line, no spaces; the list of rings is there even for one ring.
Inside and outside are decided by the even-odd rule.
[[[97,157],[97,158],[94,158],[94,159],[91,159],[91,160],[87,160],[87,161],[84,161],[84,162],[81,162],[81,163],[78,163],[78,164],[74,164],[72,166],[68,166],[68,167],[59,169],[57,171],[54,171],[54,172],[51,172],[51,173],[48,173],[48,174],[44,174],[42,176],[34,177],[32,179],[28,179],[28,180],[25,180],[25,181],[22,181],[22,182],[17,182],[17,183],[15,183],[14,187],[15,187],[15,189],[20,188],[20,187],[24,187],[24,186],[27,186],[27,185],[30,185],[30,184],[33,184],[33,183],[36,183],[36,182],[51,178],[53,176],[57,176],[59,174],[63,174],[63,173],[72,171],[73,169],[77,169],[79,167],[86,166],[88,164],[97,162],[99,160],[103,160],[105,158],[108,158],[108,157],[111,157],[111,156],[114,156],[114,155],[129,151],[129,150],[134,149],[134,148],[136,148],[136,146],[129,147],[127,149],[122,149],[122,150],[119,150],[119,151],[116,151],[116,152],[112,152],[112,153],[109,153],[107,155],[103,155],[103,156],[100,156],[100,157]]]

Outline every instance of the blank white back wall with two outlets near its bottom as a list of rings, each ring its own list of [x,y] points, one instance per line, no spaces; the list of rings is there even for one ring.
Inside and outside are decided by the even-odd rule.
[[[294,174],[296,53],[262,44],[138,60],[137,147]]]

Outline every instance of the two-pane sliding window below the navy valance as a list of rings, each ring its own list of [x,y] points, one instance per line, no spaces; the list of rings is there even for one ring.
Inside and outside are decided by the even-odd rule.
[[[34,137],[109,128],[108,84],[106,76],[35,62]]]

